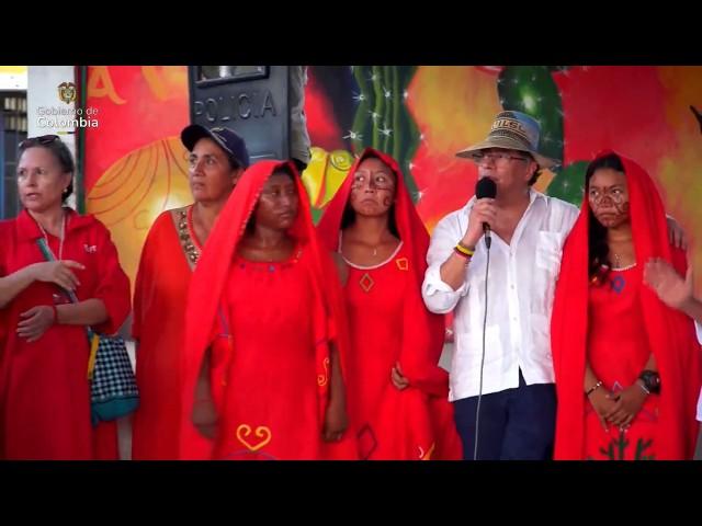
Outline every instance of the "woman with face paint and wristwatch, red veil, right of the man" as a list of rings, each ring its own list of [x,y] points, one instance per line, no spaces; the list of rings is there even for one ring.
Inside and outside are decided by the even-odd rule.
[[[691,459],[702,381],[694,323],[644,284],[656,259],[686,274],[649,175],[614,152],[588,167],[552,318],[557,459]]]

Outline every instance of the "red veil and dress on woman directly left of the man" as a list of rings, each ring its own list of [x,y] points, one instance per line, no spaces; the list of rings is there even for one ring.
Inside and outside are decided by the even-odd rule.
[[[327,248],[337,251],[353,174],[369,155],[375,155],[395,172],[395,220],[403,247],[380,267],[350,267],[344,287],[352,343],[347,357],[349,405],[360,456],[460,459],[462,446],[448,401],[449,375],[438,366],[444,321],[429,312],[421,298],[429,235],[397,162],[377,150],[364,150],[329,203],[318,231]],[[396,362],[410,381],[403,391],[390,381]]]

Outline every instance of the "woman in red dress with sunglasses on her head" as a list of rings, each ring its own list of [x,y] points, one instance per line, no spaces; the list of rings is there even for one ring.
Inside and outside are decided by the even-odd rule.
[[[117,458],[115,423],[90,421],[86,325],[120,329],[129,279],[107,229],[64,206],[73,172],[57,135],[20,145],[24,209],[0,222],[0,458]],[[57,261],[45,260],[39,240]]]

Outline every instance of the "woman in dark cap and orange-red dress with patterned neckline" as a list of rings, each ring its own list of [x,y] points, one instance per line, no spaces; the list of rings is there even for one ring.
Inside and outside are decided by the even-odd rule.
[[[188,287],[202,247],[249,165],[244,139],[228,128],[193,124],[183,129],[181,140],[190,152],[194,203],[156,218],[141,250],[134,290],[132,334],[138,343],[140,395],[133,419],[134,460],[178,458]]]

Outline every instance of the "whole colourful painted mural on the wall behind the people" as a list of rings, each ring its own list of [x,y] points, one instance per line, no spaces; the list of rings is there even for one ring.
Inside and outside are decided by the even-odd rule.
[[[656,179],[702,275],[702,67],[312,66],[308,73],[313,156],[303,181],[316,219],[353,156],[374,146],[400,162],[433,229],[475,187],[475,167],[455,152],[482,140],[502,108],[519,110],[541,122],[545,153],[562,160],[537,190],[579,205],[588,161],[602,148],[621,151]],[[134,281],[156,216],[191,201],[178,138],[189,119],[188,72],[112,66],[88,75],[87,105],[101,119],[86,130],[87,210],[110,227]]]

